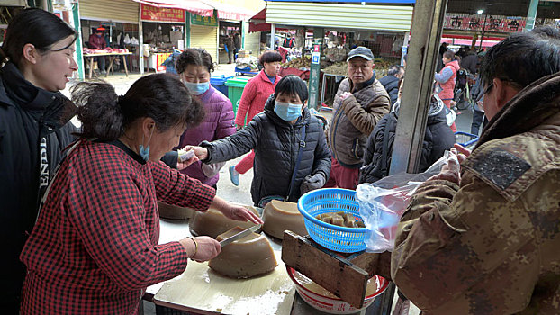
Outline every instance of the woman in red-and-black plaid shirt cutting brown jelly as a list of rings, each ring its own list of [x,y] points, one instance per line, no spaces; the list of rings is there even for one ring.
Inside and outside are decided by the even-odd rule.
[[[261,223],[159,162],[203,119],[176,77],[144,76],[123,96],[108,84],[82,83],[73,101],[83,130],[23,247],[22,314],[136,314],[147,286],[183,273],[188,258],[218,255],[220,244],[208,237],[158,245],[157,200]]]

